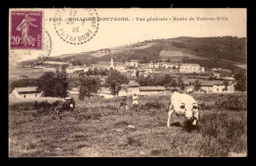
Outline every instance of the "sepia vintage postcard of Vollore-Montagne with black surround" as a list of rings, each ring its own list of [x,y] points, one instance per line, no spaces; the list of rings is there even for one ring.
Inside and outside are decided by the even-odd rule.
[[[9,9],[9,157],[246,157],[246,9]]]

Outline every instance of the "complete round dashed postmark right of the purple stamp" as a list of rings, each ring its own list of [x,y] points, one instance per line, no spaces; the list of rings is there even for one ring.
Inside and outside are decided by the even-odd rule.
[[[98,30],[96,9],[86,9],[84,12],[59,9],[53,22],[58,36],[69,44],[83,44],[91,40]]]

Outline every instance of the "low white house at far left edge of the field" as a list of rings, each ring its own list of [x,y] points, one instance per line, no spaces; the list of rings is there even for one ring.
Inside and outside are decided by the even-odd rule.
[[[18,98],[36,98],[41,96],[41,91],[38,91],[37,86],[15,87],[12,94]]]

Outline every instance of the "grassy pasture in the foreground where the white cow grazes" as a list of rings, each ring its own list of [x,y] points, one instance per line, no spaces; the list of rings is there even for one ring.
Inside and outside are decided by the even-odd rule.
[[[193,94],[204,104],[200,129],[166,128],[169,95],[141,96],[140,112],[118,112],[120,98],[77,101],[79,112],[38,115],[32,104],[9,108],[10,157],[225,157],[247,154],[247,111],[216,109],[229,94]],[[239,99],[245,95],[236,95]],[[157,98],[157,100],[156,100]],[[128,98],[131,104],[131,98]],[[173,116],[171,123],[182,122]],[[128,126],[135,128],[128,128]]]

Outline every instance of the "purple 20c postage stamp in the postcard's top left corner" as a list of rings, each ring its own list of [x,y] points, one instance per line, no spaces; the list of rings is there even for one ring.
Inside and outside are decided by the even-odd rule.
[[[11,49],[42,49],[42,15],[40,11],[11,12]]]

